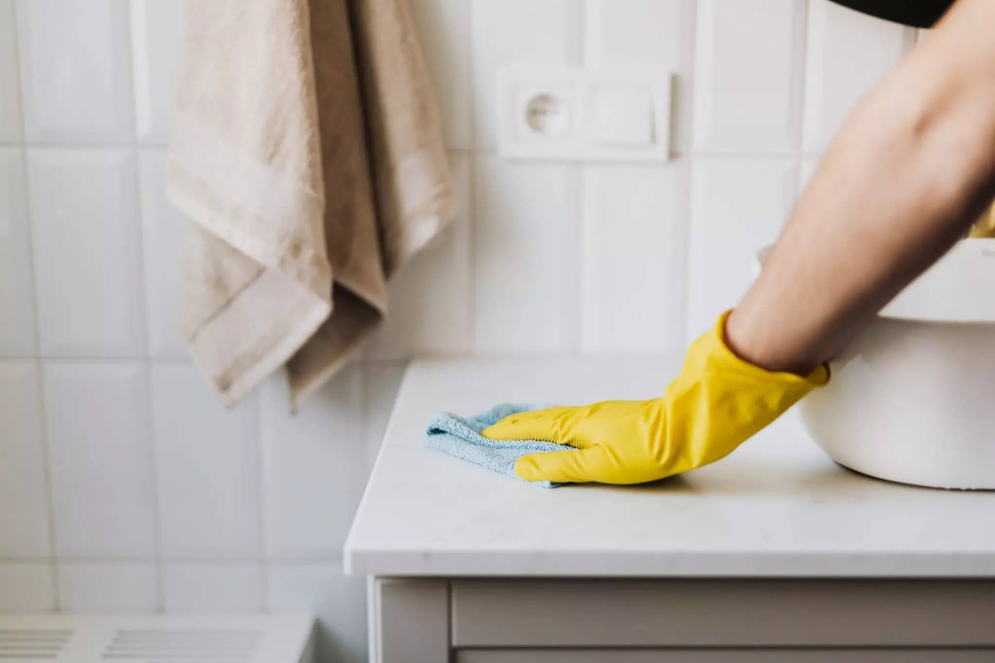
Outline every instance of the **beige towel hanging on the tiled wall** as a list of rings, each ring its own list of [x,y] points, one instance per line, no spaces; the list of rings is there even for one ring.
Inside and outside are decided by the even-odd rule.
[[[180,326],[226,404],[285,365],[295,404],[452,219],[406,0],[187,4],[166,168],[190,220]]]

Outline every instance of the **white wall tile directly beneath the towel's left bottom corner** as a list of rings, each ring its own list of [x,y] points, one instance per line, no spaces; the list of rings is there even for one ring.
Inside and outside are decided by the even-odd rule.
[[[256,402],[225,410],[190,366],[152,368],[164,557],[260,553]]]

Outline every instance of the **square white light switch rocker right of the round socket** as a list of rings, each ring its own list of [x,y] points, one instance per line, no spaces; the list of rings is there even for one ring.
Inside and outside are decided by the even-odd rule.
[[[645,86],[595,85],[594,139],[599,143],[653,143],[653,97]]]

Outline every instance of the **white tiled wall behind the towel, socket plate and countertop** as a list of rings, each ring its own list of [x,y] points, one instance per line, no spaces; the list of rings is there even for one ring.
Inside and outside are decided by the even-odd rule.
[[[0,0],[0,609],[313,609],[322,663],[364,658],[339,546],[404,361],[680,355],[912,34],[825,0],[416,0],[463,211],[291,417],[279,378],[223,410],[176,333],[182,5]],[[674,157],[498,159],[507,63],[668,68]]]

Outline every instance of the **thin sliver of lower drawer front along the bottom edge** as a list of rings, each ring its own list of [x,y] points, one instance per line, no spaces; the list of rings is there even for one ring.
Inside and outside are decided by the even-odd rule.
[[[988,649],[471,649],[457,663],[991,663]]]

